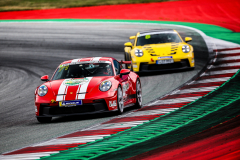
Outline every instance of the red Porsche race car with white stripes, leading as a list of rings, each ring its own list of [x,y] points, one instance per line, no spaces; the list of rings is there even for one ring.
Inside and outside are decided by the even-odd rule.
[[[142,107],[139,76],[109,57],[81,58],[61,63],[49,80],[35,90],[35,112],[39,122],[52,117],[117,111]]]

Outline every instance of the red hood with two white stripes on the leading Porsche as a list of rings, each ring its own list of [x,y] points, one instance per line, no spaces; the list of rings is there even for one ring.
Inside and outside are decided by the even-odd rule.
[[[90,93],[99,84],[111,79],[111,76],[71,78],[49,81],[56,101],[85,99],[86,93]]]

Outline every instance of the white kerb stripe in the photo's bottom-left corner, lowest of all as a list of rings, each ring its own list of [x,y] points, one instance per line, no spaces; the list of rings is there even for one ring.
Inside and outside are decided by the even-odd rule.
[[[53,153],[59,153],[58,151],[54,152],[39,152],[39,153],[25,153],[25,154],[12,154],[12,155],[0,155],[1,160],[25,160],[25,159],[40,159],[44,156],[49,156]]]

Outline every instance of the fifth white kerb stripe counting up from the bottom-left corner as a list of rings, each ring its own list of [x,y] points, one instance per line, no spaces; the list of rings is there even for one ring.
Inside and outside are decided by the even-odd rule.
[[[192,101],[197,100],[200,97],[202,97],[202,96],[158,100],[153,103],[150,103],[148,106],[159,105],[159,104],[174,104],[174,103],[192,102]]]

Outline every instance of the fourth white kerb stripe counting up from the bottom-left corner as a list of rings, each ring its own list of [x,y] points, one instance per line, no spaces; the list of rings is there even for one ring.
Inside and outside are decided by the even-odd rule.
[[[167,108],[167,109],[154,109],[154,110],[137,111],[137,112],[133,112],[132,114],[128,114],[126,117],[166,114],[166,113],[172,112],[176,109],[179,109],[179,108]]]

